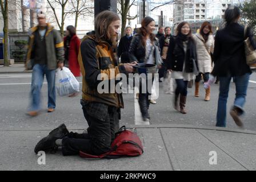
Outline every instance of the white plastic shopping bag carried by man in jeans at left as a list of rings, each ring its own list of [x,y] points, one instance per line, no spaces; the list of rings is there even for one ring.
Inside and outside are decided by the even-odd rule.
[[[57,69],[55,85],[59,96],[67,96],[79,92],[79,82],[69,68]]]

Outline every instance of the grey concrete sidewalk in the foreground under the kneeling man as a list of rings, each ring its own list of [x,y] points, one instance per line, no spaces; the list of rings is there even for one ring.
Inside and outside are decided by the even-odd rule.
[[[45,165],[38,164],[34,147],[50,130],[0,130],[0,170],[256,170],[255,131],[189,125],[127,127],[142,140],[141,156],[87,160],[58,151],[46,154]],[[217,164],[210,164],[214,156]]]

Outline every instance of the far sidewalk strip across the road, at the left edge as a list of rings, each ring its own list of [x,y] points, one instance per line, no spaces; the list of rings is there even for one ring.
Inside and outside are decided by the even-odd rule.
[[[24,64],[11,64],[9,67],[0,65],[0,74],[9,73],[32,73],[31,71],[25,71]]]

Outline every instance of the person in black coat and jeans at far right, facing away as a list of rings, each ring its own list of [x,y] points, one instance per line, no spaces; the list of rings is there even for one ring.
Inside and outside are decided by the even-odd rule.
[[[230,110],[230,115],[235,123],[242,127],[241,115],[245,113],[243,106],[246,101],[247,87],[251,74],[250,67],[246,64],[245,44],[246,37],[253,41],[250,28],[244,34],[245,27],[238,21],[241,11],[237,6],[229,6],[225,11],[226,26],[218,30],[215,36],[214,46],[214,76],[219,76],[219,99],[217,111],[218,127],[226,127],[227,97],[231,78],[235,82],[235,101]]]

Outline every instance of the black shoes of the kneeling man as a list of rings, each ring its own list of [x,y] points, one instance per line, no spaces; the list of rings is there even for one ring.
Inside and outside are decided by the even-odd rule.
[[[57,139],[62,139],[63,137],[66,137],[66,135],[69,134],[69,131],[67,130],[66,126],[64,124],[60,125],[53,131],[49,133],[49,135],[43,139],[41,139],[37,146],[35,146],[35,153],[37,154],[39,151],[48,151],[54,152],[58,149],[58,147],[55,144],[55,141]]]

